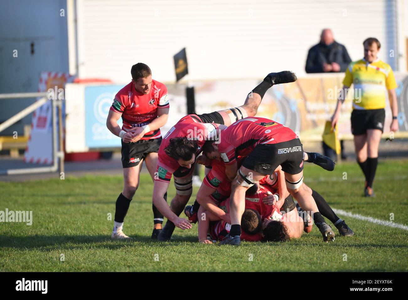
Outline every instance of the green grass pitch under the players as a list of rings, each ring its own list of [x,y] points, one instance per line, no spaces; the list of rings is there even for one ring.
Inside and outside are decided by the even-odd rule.
[[[384,221],[392,213],[392,222],[407,225],[407,170],[407,160],[382,160],[376,198],[362,196],[364,180],[356,163],[339,164],[333,172],[307,164],[304,173],[306,184],[334,209]],[[197,225],[176,228],[172,242],[153,242],[152,189],[142,174],[124,222],[133,241],[123,242],[110,239],[120,176],[0,182],[0,211],[33,211],[31,226],[0,223],[0,271],[408,271],[408,231],[340,214],[355,236],[337,235],[330,244],[315,226],[285,243],[202,245]],[[174,194],[171,183],[169,199]]]

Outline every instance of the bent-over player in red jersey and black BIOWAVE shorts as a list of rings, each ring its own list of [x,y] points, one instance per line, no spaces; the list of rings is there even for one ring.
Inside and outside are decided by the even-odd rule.
[[[333,241],[335,233],[317,209],[313,197],[303,184],[304,152],[297,135],[288,127],[266,118],[248,117],[238,120],[220,134],[218,144],[208,141],[207,156],[222,159],[226,163],[226,174],[233,179],[231,184],[231,232],[221,244],[240,244],[240,220],[245,209],[245,191],[265,175],[273,174],[281,165],[285,172],[289,193],[302,209],[313,212],[316,226],[325,242]],[[237,171],[235,156],[247,156]],[[306,158],[307,161],[314,160]],[[328,166],[327,169],[333,169]],[[235,176],[237,174],[237,176]]]

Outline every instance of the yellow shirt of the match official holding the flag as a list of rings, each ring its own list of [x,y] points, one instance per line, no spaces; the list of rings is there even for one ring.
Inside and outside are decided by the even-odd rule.
[[[352,83],[355,89],[353,109],[385,108],[387,90],[397,87],[390,65],[379,59],[372,63],[364,58],[351,62],[343,84],[350,87]]]

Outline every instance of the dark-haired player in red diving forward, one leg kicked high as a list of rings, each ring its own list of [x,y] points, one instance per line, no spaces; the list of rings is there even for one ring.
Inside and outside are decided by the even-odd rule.
[[[168,221],[157,237],[158,240],[170,240],[175,226],[183,230],[191,228],[190,222],[179,218],[179,215],[193,191],[193,167],[197,155],[202,151],[204,142],[211,139],[216,140],[216,134],[223,127],[247,116],[255,116],[264,94],[274,84],[294,82],[296,79],[295,74],[290,71],[270,73],[248,94],[243,105],[203,115],[188,115],[164,136],[159,150],[153,204]],[[169,188],[173,174],[177,194],[169,207],[164,200],[164,195]]]

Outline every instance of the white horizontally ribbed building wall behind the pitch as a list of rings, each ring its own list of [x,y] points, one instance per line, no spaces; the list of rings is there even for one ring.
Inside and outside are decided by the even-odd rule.
[[[189,79],[261,78],[271,71],[305,73],[308,49],[333,29],[352,60],[377,37],[380,57],[396,70],[397,0],[78,0],[80,77],[130,80],[131,65],[174,81],[173,55],[187,49]]]

